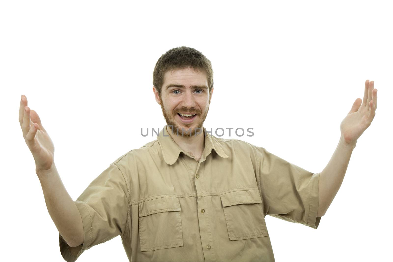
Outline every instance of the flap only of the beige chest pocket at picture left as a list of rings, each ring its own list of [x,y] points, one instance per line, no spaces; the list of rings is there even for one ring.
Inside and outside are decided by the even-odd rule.
[[[139,216],[147,216],[160,212],[180,211],[179,199],[176,197],[164,197],[147,200],[139,203]]]

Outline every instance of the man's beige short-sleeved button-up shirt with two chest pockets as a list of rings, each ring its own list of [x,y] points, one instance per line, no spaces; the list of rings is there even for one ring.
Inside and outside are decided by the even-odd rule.
[[[59,235],[63,258],[120,235],[130,261],[274,261],[266,214],[318,227],[320,173],[204,134],[199,162],[163,128],[111,163],[75,201],[84,242]]]

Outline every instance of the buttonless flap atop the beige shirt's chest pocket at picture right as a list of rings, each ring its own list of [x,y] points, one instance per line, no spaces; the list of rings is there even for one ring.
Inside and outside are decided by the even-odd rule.
[[[258,190],[241,190],[221,194],[223,207],[238,204],[262,203]]]

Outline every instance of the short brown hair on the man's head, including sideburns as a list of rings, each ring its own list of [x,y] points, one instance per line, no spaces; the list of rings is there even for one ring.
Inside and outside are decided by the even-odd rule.
[[[187,46],[169,49],[158,59],[153,71],[153,85],[156,87],[158,94],[161,96],[164,75],[167,71],[187,67],[206,73],[211,95],[211,90],[213,89],[213,68],[211,67],[211,62],[200,51]]]

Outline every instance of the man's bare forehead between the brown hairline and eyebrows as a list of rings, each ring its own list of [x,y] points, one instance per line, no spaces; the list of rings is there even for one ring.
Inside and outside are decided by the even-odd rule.
[[[193,68],[183,68],[183,69],[174,69],[165,72],[164,75],[164,84],[169,82],[189,82],[191,83],[199,83],[208,85],[208,77],[205,72],[199,72],[197,70],[193,70]]]

